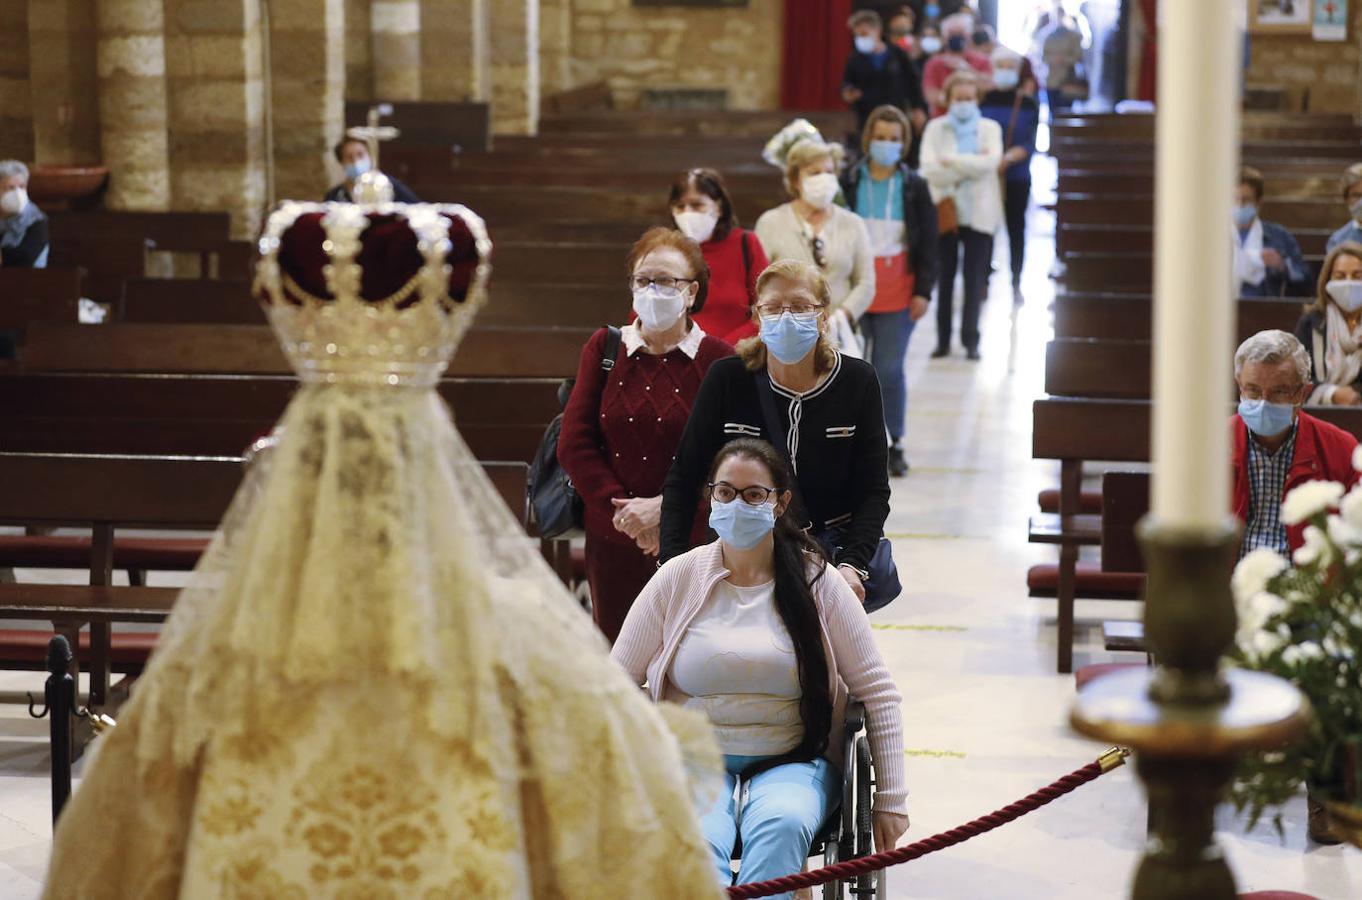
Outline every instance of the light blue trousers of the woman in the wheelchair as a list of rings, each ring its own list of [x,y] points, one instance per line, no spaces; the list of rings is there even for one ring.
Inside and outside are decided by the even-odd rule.
[[[719,882],[734,884],[733,850],[742,835],[742,862],[737,884],[765,881],[804,871],[813,837],[842,799],[842,773],[819,758],[767,769],[742,784],[734,799],[737,775],[760,757],[723,757],[726,791],[700,820],[710,841]],[[776,895],[790,900],[793,895]]]

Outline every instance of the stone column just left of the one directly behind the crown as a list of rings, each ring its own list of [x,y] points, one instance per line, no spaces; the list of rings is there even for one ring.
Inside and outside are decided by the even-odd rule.
[[[255,237],[266,203],[259,0],[163,1],[172,206],[227,210],[233,237]]]

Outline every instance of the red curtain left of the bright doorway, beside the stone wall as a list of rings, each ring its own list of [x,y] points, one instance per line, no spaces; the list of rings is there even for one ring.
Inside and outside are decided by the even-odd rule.
[[[842,69],[851,53],[850,15],[851,0],[785,0],[785,109],[846,109]]]

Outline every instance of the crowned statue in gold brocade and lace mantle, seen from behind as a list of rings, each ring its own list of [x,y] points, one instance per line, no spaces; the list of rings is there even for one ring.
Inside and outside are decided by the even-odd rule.
[[[716,896],[707,726],[614,667],[434,391],[489,253],[459,206],[270,218],[256,290],[301,387],[46,897]]]

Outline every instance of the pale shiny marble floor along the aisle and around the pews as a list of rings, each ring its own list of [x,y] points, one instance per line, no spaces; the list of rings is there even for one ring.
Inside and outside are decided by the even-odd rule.
[[[1042,200],[1047,162],[1036,161]],[[874,625],[904,696],[910,839],[1004,806],[1105,749],[1068,730],[1073,678],[1054,673],[1054,603],[1026,592],[1027,568],[1054,558],[1026,541],[1036,492],[1058,482],[1057,467],[1030,453],[1031,400],[1050,335],[1051,237],[1053,219],[1035,210],[1026,304],[1013,310],[1007,276],[994,278],[982,362],[960,351],[928,359],[930,317],[908,353],[913,471],[895,482],[887,526],[906,592]],[[1001,241],[997,264],[1007,272]],[[1132,603],[1079,603],[1077,613],[1079,666],[1113,659],[1102,649],[1102,620],[1139,617]],[[22,704],[23,692],[41,688],[38,675],[0,673],[0,900],[38,895],[50,841],[46,724]],[[892,870],[889,896],[1124,897],[1144,821],[1139,783],[1118,769],[1012,825]],[[1286,811],[1284,840],[1269,825],[1245,833],[1229,809],[1219,840],[1241,890],[1362,896],[1362,852],[1308,846],[1303,801]]]

